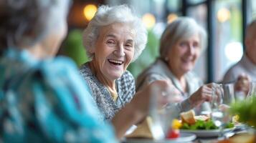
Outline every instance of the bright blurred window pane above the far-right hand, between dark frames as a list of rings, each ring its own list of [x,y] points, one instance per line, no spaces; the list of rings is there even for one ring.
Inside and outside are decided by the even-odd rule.
[[[214,1],[214,81],[220,82],[230,66],[242,58],[240,0]]]

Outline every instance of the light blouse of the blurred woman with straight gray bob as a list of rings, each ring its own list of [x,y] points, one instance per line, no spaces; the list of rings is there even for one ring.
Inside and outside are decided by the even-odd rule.
[[[181,84],[178,79],[171,73],[169,67],[162,59],[156,59],[156,61],[151,64],[145,71],[143,71],[137,78],[136,81],[136,90],[140,90],[145,87],[147,84],[155,81],[155,80],[164,80],[171,79],[171,82],[174,84],[174,87],[179,90],[181,95],[184,97],[184,101],[176,104],[179,112],[186,112],[191,109],[191,104],[189,103],[188,97],[196,92],[199,87],[202,86],[203,82],[200,80],[196,74],[192,71],[189,71],[184,75],[186,79],[187,92],[184,92]],[[196,114],[200,114],[202,111],[210,111],[210,105],[207,102],[204,102],[201,107],[194,109]]]

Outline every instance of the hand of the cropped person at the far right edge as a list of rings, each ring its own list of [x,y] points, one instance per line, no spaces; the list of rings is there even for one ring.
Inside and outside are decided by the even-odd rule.
[[[237,77],[237,82],[234,84],[235,92],[244,92],[245,96],[248,94],[250,89],[251,78],[249,75],[242,73]]]

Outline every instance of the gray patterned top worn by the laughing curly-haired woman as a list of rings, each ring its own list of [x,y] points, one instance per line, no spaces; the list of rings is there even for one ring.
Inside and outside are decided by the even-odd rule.
[[[118,99],[116,101],[111,97],[108,88],[93,75],[88,63],[80,67],[80,74],[89,84],[93,93],[93,99],[102,113],[100,119],[110,121],[116,112],[133,99],[136,87],[133,75],[129,71],[125,71],[119,79],[115,80],[115,87],[118,92]]]

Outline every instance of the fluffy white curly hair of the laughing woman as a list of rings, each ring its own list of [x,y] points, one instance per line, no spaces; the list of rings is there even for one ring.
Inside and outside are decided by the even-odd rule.
[[[100,6],[93,19],[89,22],[87,28],[83,32],[83,44],[87,55],[92,59],[94,54],[91,53],[95,48],[95,42],[98,39],[100,28],[115,22],[129,24],[136,32],[135,51],[133,60],[135,61],[146,47],[147,34],[146,27],[143,25],[131,9],[126,5],[120,6]]]

